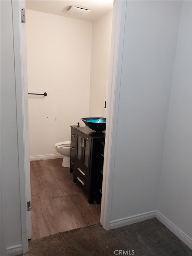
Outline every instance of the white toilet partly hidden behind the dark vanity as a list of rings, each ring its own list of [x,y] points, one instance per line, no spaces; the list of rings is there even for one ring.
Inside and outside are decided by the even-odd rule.
[[[55,144],[55,149],[57,152],[61,155],[63,155],[63,167],[70,167],[70,147],[71,142],[69,141],[63,141],[58,142]]]

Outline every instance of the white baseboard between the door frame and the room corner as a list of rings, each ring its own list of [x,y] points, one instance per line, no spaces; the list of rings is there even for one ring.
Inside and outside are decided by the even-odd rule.
[[[111,221],[110,222],[110,229],[123,227],[123,226],[126,226],[126,225],[130,225],[130,224],[140,222],[140,221],[145,221],[145,220],[155,218],[155,217],[156,217],[156,211],[137,214],[137,215],[134,215],[134,216],[130,216],[128,218],[122,218],[122,219],[119,219],[119,220]]]

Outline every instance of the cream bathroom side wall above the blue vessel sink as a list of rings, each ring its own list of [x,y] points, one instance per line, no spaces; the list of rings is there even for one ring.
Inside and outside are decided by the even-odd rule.
[[[109,79],[113,10],[93,22],[89,116],[104,116],[106,84]]]

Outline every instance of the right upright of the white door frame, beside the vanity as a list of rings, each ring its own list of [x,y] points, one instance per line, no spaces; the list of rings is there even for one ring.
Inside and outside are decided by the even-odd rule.
[[[119,95],[123,58],[127,1],[114,1],[110,78],[108,91],[108,111],[106,122],[106,139],[104,149],[104,172],[101,200],[101,224],[105,230],[110,229],[113,197],[113,176],[115,168],[116,134],[118,125]]]

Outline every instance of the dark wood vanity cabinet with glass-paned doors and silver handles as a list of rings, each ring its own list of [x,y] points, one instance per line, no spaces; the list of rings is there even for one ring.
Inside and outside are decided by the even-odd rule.
[[[73,182],[88,194],[89,204],[93,203],[94,194],[98,192],[101,141],[105,141],[105,132],[97,134],[86,126],[71,126],[71,142],[75,144],[74,149],[71,144],[74,161],[71,160],[70,172],[73,172]]]

